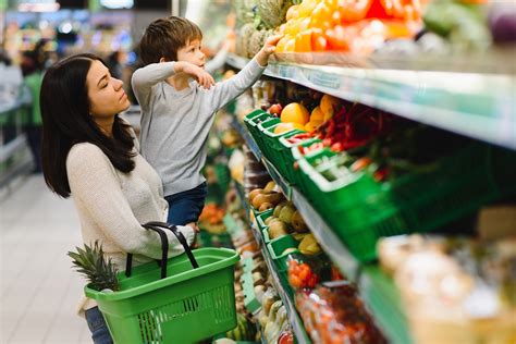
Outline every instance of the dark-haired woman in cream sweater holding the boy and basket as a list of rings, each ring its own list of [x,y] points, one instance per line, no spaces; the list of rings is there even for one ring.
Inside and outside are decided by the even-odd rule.
[[[156,171],[138,153],[131,126],[118,113],[130,107],[122,82],[94,54],[62,60],[45,74],[41,86],[45,181],[62,197],[73,196],[83,241],[99,239],[123,270],[126,254],[134,263],[160,259],[159,236],[140,223],[165,221],[168,204]],[[191,226],[179,226],[188,244]],[[169,256],[183,253],[169,235]],[[96,304],[82,304],[95,343],[112,343]]]

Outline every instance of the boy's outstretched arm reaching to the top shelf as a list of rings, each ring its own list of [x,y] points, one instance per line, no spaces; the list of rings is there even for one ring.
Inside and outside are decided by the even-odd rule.
[[[266,40],[266,44],[261,50],[255,56],[249,63],[244,66],[242,71],[238,72],[232,78],[219,83],[216,85],[212,93],[207,95],[211,97],[210,103],[212,105],[213,112],[226,106],[231,100],[238,97],[247,88],[253,86],[253,84],[261,76],[263,73],[269,57],[274,52],[275,45],[281,39],[281,35],[269,37]]]

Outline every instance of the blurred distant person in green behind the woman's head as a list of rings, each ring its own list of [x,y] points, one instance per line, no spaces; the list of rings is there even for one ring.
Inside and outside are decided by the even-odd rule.
[[[44,56],[41,48],[26,51],[22,56],[22,74],[24,84],[30,93],[32,103],[27,118],[24,119],[24,131],[33,153],[34,173],[41,173],[41,111],[39,109],[39,93],[44,77]]]

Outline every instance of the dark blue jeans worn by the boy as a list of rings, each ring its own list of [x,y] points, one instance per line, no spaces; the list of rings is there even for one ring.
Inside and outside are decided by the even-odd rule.
[[[164,197],[169,202],[169,218],[167,222],[175,225],[197,222],[205,207],[208,186],[205,182],[193,189]]]

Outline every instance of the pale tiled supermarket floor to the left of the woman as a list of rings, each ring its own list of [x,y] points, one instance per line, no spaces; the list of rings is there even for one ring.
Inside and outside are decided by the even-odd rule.
[[[29,176],[0,202],[0,343],[91,343],[76,316],[83,280],[66,251],[81,244],[73,202]]]

